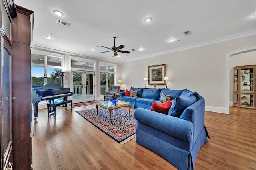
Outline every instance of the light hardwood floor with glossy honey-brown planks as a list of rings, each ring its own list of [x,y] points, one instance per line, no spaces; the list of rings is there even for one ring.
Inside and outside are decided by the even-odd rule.
[[[94,127],[76,111],[95,107],[46,109],[32,120],[33,170],[172,170],[172,164],[135,142],[124,145]],[[230,114],[206,111],[211,139],[200,149],[196,170],[256,170],[256,110],[230,106]]]

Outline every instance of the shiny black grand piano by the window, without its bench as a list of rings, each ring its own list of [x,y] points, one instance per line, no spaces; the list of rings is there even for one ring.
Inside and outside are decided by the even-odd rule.
[[[54,103],[55,99],[64,98],[67,100],[68,96],[72,95],[73,92],[70,92],[70,88],[62,88],[60,84],[48,83],[42,84],[42,86],[32,86],[31,102],[34,107],[34,119],[38,117],[39,102],[46,100],[49,103]]]

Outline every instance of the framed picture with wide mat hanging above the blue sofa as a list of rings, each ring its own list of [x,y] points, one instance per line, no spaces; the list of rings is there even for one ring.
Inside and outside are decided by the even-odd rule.
[[[148,66],[148,84],[166,84],[166,64]]]

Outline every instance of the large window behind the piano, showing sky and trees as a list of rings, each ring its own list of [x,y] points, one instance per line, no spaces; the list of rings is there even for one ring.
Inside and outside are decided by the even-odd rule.
[[[31,55],[31,86],[46,83],[62,85],[60,72],[62,71],[63,56]]]

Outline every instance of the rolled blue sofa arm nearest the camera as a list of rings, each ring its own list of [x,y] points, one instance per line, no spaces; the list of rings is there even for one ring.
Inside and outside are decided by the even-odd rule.
[[[193,140],[193,123],[190,121],[143,108],[137,108],[134,111],[134,118],[138,122],[183,139],[184,141]]]

